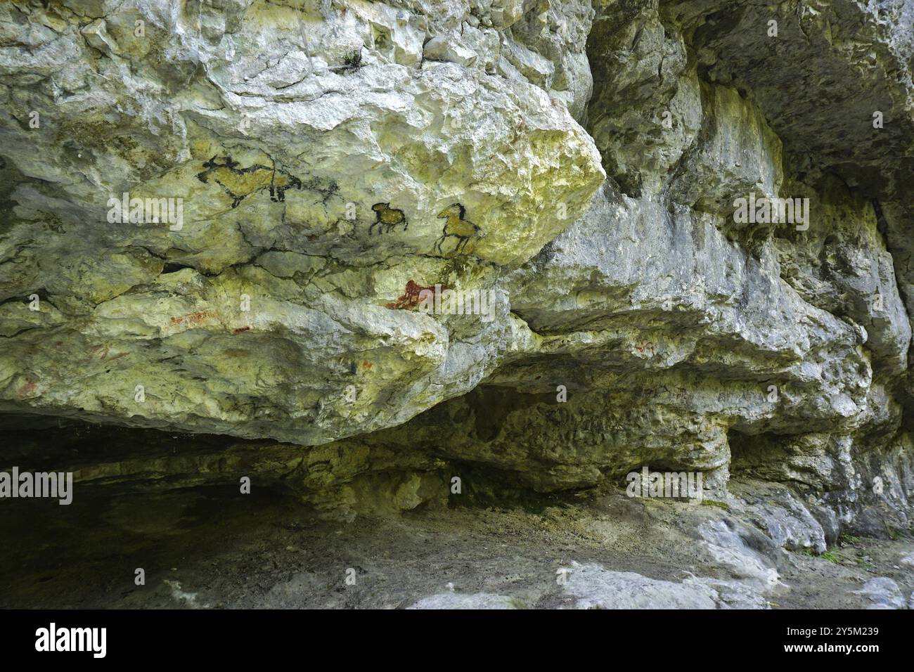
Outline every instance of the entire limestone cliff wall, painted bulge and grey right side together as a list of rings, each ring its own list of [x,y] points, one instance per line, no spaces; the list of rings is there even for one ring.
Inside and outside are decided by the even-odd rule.
[[[649,465],[781,546],[908,527],[912,20],[6,4],[0,411],[254,439],[168,469],[249,451],[345,515]],[[579,574],[587,604],[641,581]]]

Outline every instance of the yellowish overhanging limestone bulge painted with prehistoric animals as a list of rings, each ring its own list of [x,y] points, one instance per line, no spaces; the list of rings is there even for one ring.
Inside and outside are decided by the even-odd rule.
[[[0,9],[6,410],[318,444],[497,366],[497,277],[604,178],[590,7],[304,5]]]

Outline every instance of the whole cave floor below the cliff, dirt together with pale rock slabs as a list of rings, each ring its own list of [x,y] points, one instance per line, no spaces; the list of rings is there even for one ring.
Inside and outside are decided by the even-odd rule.
[[[821,555],[785,550],[771,530],[802,530],[773,484],[734,479],[741,496],[701,504],[605,487],[500,503],[452,496],[349,521],[254,484],[250,495],[166,478],[153,489],[88,485],[66,507],[7,499],[0,607],[914,607],[910,530],[844,533]],[[743,508],[762,492],[767,521],[758,501]]]

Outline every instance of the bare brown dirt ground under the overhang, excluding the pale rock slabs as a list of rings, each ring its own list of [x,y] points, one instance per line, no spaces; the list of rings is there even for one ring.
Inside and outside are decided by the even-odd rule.
[[[740,579],[694,532],[735,525],[727,511],[620,494],[353,522],[234,487],[130,496],[100,488],[69,507],[5,500],[0,511],[3,607],[396,609],[447,592],[573,607],[557,572],[575,562],[664,581]],[[908,538],[845,538],[824,557],[767,549],[780,583],[765,600],[775,609],[866,608],[856,591],[876,577],[908,596],[914,567],[900,559],[912,551]],[[135,583],[140,568],[144,585]]]

